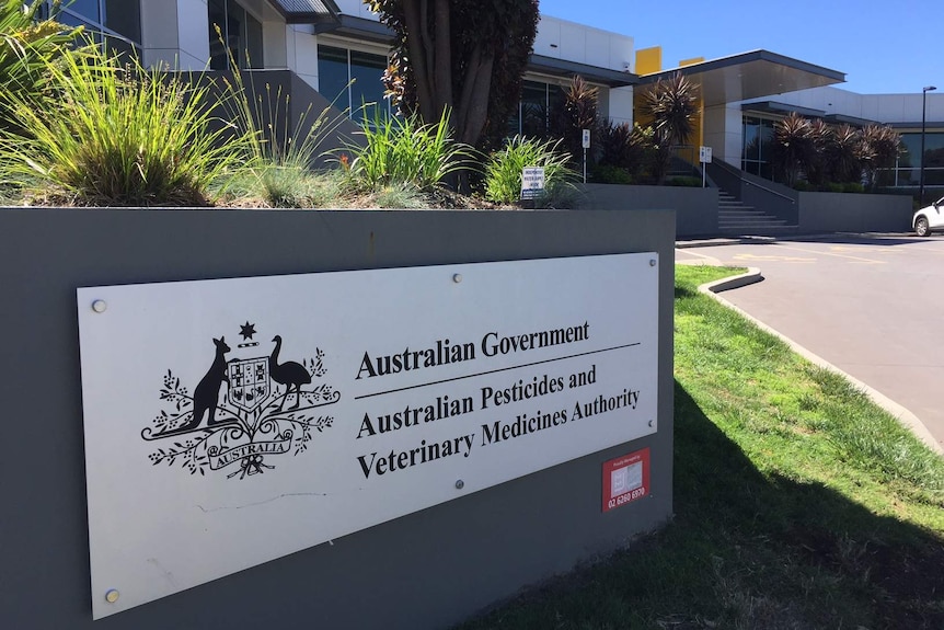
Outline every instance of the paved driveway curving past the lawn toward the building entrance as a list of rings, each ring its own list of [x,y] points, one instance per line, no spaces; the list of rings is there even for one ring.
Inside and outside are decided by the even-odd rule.
[[[676,261],[759,267],[762,282],[723,297],[905,406],[944,446],[944,237],[757,240],[678,249]]]

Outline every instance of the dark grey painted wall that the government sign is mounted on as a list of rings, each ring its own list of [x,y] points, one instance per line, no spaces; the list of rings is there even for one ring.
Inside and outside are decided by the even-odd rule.
[[[669,211],[0,209],[0,627],[441,628],[669,518]],[[92,622],[76,288],[656,251],[659,432]],[[652,448],[601,514],[601,463]]]

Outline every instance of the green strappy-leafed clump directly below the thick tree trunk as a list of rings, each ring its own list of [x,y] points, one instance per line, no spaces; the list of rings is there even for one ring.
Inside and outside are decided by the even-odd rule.
[[[377,191],[408,184],[425,191],[472,168],[473,149],[452,140],[447,112],[435,125],[424,125],[417,116],[384,118],[376,112],[362,133],[365,146],[345,148],[354,157],[347,172],[355,187]]]

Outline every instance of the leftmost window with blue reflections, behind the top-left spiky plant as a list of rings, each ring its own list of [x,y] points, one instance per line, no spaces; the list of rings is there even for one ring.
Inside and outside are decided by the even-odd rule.
[[[55,18],[69,26],[84,26],[108,50],[140,51],[141,0],[73,0],[64,2]]]

